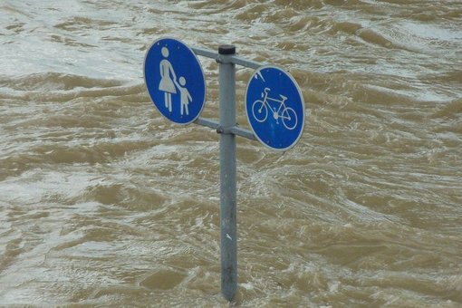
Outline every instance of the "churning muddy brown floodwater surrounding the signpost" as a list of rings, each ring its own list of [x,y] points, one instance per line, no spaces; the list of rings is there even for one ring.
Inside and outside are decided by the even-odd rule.
[[[237,138],[240,305],[460,307],[461,29],[459,0],[2,0],[0,305],[227,306],[217,133],[144,86],[171,36],[303,91],[294,149]]]

